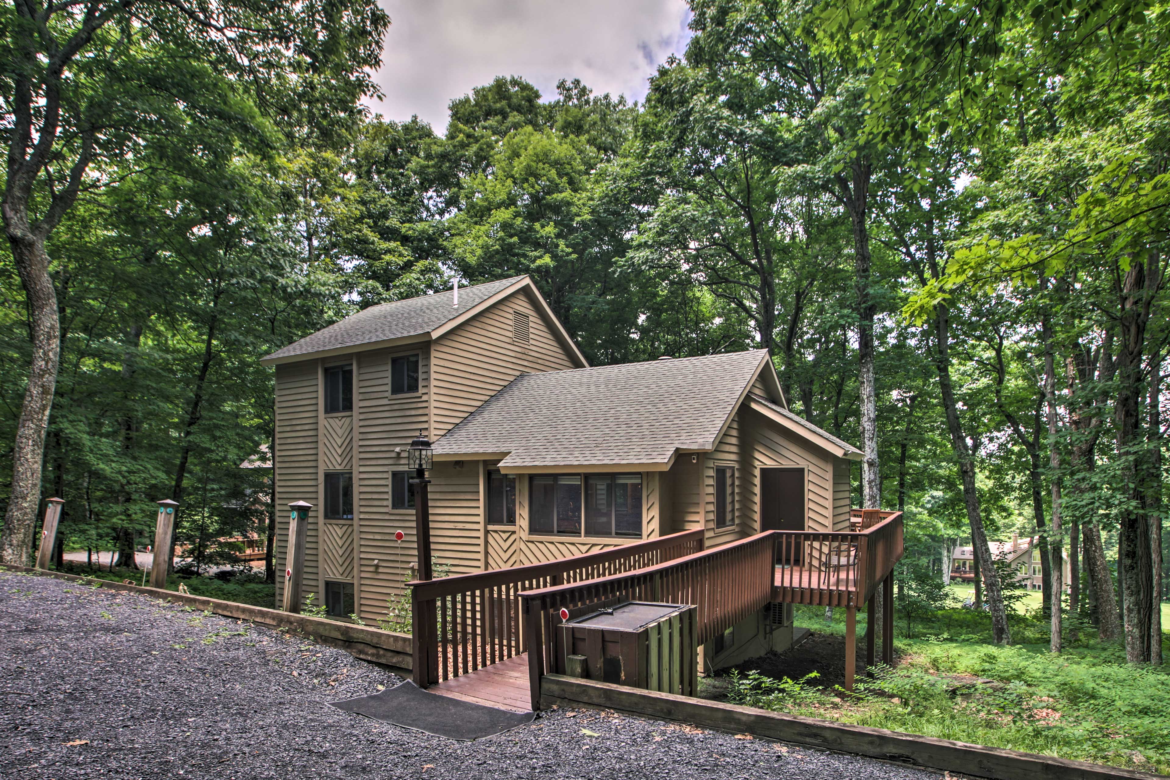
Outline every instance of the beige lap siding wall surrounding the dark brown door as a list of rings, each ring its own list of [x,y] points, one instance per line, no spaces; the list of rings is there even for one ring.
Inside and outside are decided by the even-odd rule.
[[[758,502],[760,467],[808,467],[807,530],[831,531],[834,516],[832,456],[803,442],[758,413],[741,414],[745,414],[745,424],[751,426],[751,436],[745,440],[745,447],[751,447],[752,460],[752,468],[746,469],[748,499],[753,506]]]

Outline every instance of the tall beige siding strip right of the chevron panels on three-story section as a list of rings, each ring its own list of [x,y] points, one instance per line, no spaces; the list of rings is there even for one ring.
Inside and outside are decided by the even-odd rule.
[[[419,354],[419,393],[390,394],[390,360]],[[410,566],[418,559],[414,510],[390,509],[390,472],[406,470],[406,450],[419,430],[428,429],[431,389],[429,345],[362,353],[357,377],[358,414],[358,614],[376,621],[386,615],[386,600],[404,592]],[[401,451],[395,454],[394,449]],[[394,539],[401,531],[405,539]]]

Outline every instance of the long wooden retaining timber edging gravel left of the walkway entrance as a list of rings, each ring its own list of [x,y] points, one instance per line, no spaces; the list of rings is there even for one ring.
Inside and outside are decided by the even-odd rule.
[[[322,644],[329,644],[330,647],[345,650],[355,658],[360,658],[362,661],[372,661],[374,663],[381,663],[398,669],[411,668],[411,637],[407,634],[384,631],[380,628],[372,628],[370,626],[343,623],[336,620],[328,620],[325,617],[310,617],[308,615],[281,612],[278,609],[268,609],[266,607],[254,607],[252,605],[236,603],[234,601],[208,599],[207,596],[197,596],[187,593],[178,593],[176,591],[163,591],[160,588],[150,587],[143,588],[137,585],[111,582],[109,580],[99,580],[92,577],[78,577],[76,574],[66,574],[63,572],[28,568],[27,566],[8,566],[0,564],[0,571],[53,577],[58,580],[68,580],[70,582],[81,582],[90,586],[97,585],[110,591],[138,593],[153,599],[181,603],[184,606],[192,607],[193,609],[209,610],[216,615],[223,615],[225,617],[235,617],[238,620],[247,620],[263,626],[285,628],[290,631],[296,631],[300,635],[310,636]]]

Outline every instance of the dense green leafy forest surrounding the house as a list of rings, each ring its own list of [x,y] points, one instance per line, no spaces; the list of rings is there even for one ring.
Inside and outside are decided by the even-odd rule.
[[[6,7],[5,560],[48,496],[128,564],[161,498],[266,526],[260,357],[529,274],[592,365],[768,347],[910,591],[973,544],[1007,642],[987,539],[1037,537],[1053,649],[1161,662],[1170,12],[1065,5],[691,0],[645,103],[501,76],[441,134],[362,108],[362,0]]]

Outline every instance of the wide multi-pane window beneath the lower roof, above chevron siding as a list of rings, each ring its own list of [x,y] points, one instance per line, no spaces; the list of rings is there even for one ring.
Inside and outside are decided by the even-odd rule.
[[[642,475],[539,475],[529,478],[529,533],[642,536]]]

